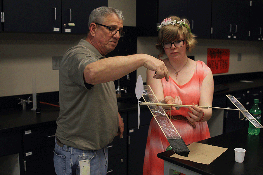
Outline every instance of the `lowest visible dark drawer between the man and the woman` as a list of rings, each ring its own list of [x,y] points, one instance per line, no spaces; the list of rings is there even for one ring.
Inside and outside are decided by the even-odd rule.
[[[108,159],[107,175],[126,175],[127,157],[126,154],[110,157]]]

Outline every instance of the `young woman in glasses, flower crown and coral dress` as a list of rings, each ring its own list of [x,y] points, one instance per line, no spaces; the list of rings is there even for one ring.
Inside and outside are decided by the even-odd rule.
[[[165,79],[154,79],[154,71],[147,70],[147,84],[150,85],[160,103],[192,105],[188,108],[171,108],[171,121],[186,144],[210,138],[207,120],[212,116],[214,81],[209,67],[202,61],[194,61],[187,57],[197,43],[191,33],[186,19],[172,16],[159,26],[158,43],[159,58],[163,60],[169,71],[169,82]],[[169,108],[167,108],[169,110]],[[168,112],[167,112],[168,113]],[[152,118],[148,131],[148,139],[144,157],[143,175],[164,173],[164,161],[157,157],[158,153],[169,146],[158,123]]]

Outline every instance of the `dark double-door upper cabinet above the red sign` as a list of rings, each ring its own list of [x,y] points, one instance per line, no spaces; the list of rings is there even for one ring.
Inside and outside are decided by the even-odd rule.
[[[212,1],[211,38],[248,40],[249,0]]]

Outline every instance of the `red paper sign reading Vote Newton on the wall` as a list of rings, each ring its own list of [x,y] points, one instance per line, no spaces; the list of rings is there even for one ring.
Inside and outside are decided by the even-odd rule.
[[[213,74],[226,73],[229,69],[229,49],[207,49],[207,66]]]

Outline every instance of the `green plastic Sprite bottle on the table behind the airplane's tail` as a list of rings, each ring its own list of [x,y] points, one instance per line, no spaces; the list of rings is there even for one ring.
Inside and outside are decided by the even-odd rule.
[[[261,110],[258,106],[258,99],[254,99],[254,104],[252,106],[252,108],[250,109],[250,114],[260,123],[261,121]],[[260,132],[259,128],[256,128],[251,122],[249,122],[248,125],[248,134],[250,135],[258,135]]]

